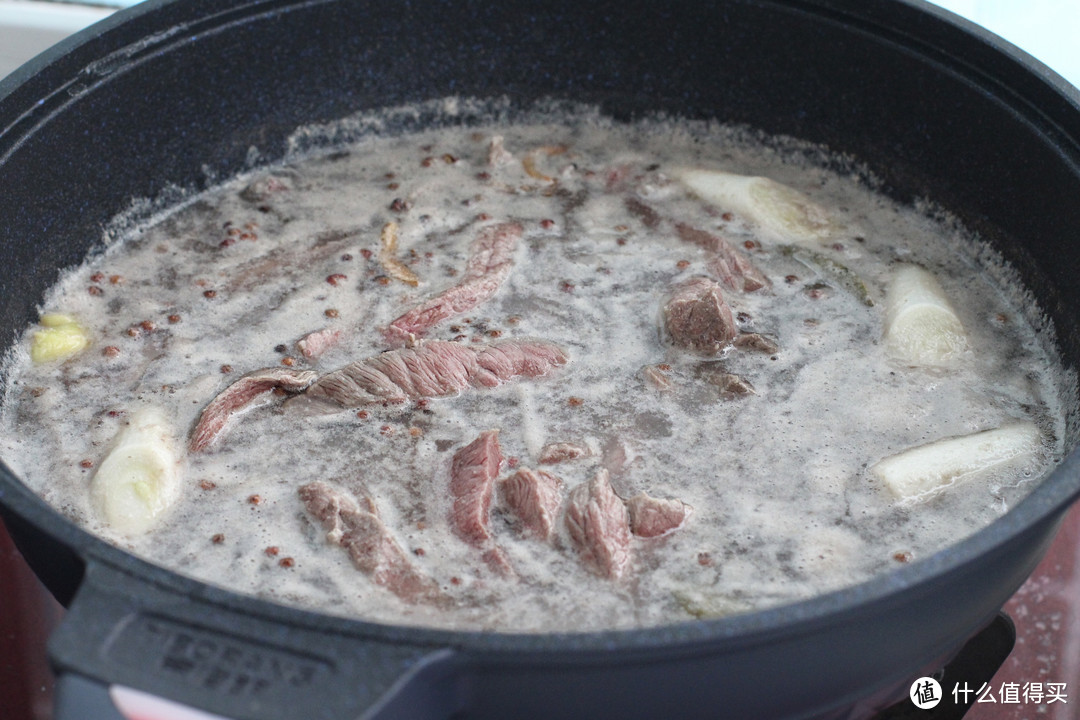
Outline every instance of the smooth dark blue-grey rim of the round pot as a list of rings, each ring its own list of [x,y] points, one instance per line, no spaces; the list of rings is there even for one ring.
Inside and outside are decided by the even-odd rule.
[[[165,16],[167,15],[166,11],[178,9],[185,4],[198,8],[201,3],[185,3],[183,0],[146,0],[138,5],[119,11],[65,39],[0,80],[0,107],[25,86],[42,81],[42,78],[49,73],[55,74],[58,69],[64,70],[65,67],[71,66],[72,56],[94,58],[76,66],[86,71],[100,67],[98,65],[100,62],[125,56],[124,53],[130,54],[129,51],[135,45],[124,42],[114,46],[118,44],[114,41],[110,45],[110,32],[130,25],[133,21],[145,19],[149,21],[151,25],[154,21],[160,23],[162,17],[159,16]],[[215,15],[213,22],[218,25],[214,25],[214,27],[232,22],[238,15],[248,17],[249,15],[280,12],[282,9],[300,4],[309,4],[309,2],[306,0],[269,0],[266,2],[247,0],[238,3],[234,9]],[[838,12],[858,14],[864,18],[873,18],[882,9],[905,6],[910,12],[931,18],[933,23],[939,24],[932,28],[935,32],[942,31],[943,28],[951,31],[959,30],[987,45],[997,55],[999,62],[1005,60],[1012,66],[1013,72],[1020,71],[1028,81],[1034,80],[1043,89],[1049,87],[1058,101],[1064,101],[1066,111],[1071,111],[1080,119],[1080,90],[1008,41],[924,0],[807,0],[802,2],[789,0],[789,2],[781,4],[799,5],[804,9],[809,8],[810,12],[821,11],[831,15]],[[145,47],[147,43],[166,41],[174,35],[174,30],[179,31],[180,28],[184,28],[186,31],[190,31],[191,26],[203,26],[211,22],[198,12],[185,16],[190,21],[188,24],[175,25],[171,29],[145,36],[143,43],[135,44]],[[912,36],[912,41],[916,49],[926,44],[926,41],[917,36]],[[957,62],[962,63],[962,60]],[[50,81],[57,82],[54,91],[56,93],[64,92],[68,84],[73,82],[70,78],[67,79],[67,84],[60,84],[63,81],[59,79],[50,79]],[[31,109],[27,107],[26,112]],[[1035,110],[1038,111],[1038,108]],[[0,138],[21,119],[16,119],[15,123],[5,128],[0,128]],[[1080,137],[1070,139],[1080,145]],[[3,157],[0,155],[0,165],[2,163]],[[1077,362],[1080,364],[1080,358],[1077,358]],[[1032,530],[1044,522],[1056,522],[1078,497],[1080,497],[1080,449],[1074,449],[1022,502],[990,525],[929,557],[876,575],[860,584],[806,600],[711,620],[680,621],[644,628],[529,634],[451,630],[426,626],[372,623],[361,619],[279,604],[255,596],[246,596],[213,586],[156,566],[86,532],[37,497],[6,465],[0,462],[0,506],[2,506],[0,508],[6,508],[35,528],[44,530],[52,538],[72,548],[87,566],[95,563],[108,566],[122,573],[152,583],[170,593],[198,598],[207,604],[269,622],[285,623],[312,630],[330,630],[357,639],[404,640],[417,644],[454,647],[462,650],[518,653],[549,650],[582,653],[610,652],[613,649],[653,650],[658,647],[670,648],[673,640],[677,641],[683,650],[688,650],[707,643],[757,642],[762,636],[810,631],[835,620],[838,615],[851,617],[861,612],[870,612],[870,608],[878,607],[879,603],[900,601],[901,597],[910,593],[930,592],[933,581],[940,575],[962,568],[1000,548],[1014,536]]]

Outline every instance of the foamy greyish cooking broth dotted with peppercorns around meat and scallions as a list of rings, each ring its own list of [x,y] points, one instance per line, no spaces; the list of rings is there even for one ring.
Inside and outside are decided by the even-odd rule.
[[[494,136],[512,157],[489,162]],[[67,517],[150,561],[377,622],[650,626],[888,572],[984,527],[1030,490],[1063,453],[1061,398],[1071,385],[1037,310],[993,253],[947,218],[899,206],[825,161],[842,166],[746,132],[582,116],[373,134],[237,179],[126,232],[49,294],[43,312],[75,315],[93,342],[63,364],[35,364],[28,332],[10,354],[3,458]],[[875,304],[696,198],[671,178],[680,166],[768,176],[828,208],[842,230],[816,249],[855,273]],[[710,274],[708,253],[670,223],[649,228],[627,212],[631,196],[724,235],[764,270],[771,288],[725,298],[741,329],[775,340],[778,352],[702,357],[672,347],[661,309],[678,282]],[[244,372],[289,357],[324,373],[388,350],[381,330],[460,282],[478,230],[507,220],[524,227],[507,282],[427,337],[549,340],[566,349],[566,366],[422,403],[314,417],[280,404],[253,409],[210,450],[185,453],[180,500],[159,527],[124,536],[103,524],[87,487],[138,408],[162,408],[184,448],[202,408]],[[416,287],[379,262],[390,221]],[[881,299],[897,262],[930,269],[957,309],[970,350],[956,368],[886,356]],[[323,328],[340,329],[340,340],[305,359],[296,341]],[[661,366],[671,389],[653,386],[647,366]],[[755,393],[720,397],[703,380],[717,366]],[[1038,423],[1044,448],[1009,474],[905,505],[867,472],[908,447],[1020,419]],[[635,539],[630,572],[613,581],[581,561],[562,517],[552,542],[529,538],[497,492],[491,533],[513,572],[495,572],[447,522],[450,459],[489,429],[517,466],[539,467],[549,443],[588,447],[588,457],[544,466],[563,478],[564,498],[606,467],[621,497],[677,498],[692,515],[669,535]],[[502,476],[510,472],[504,464]],[[297,488],[312,480],[368,492],[447,601],[404,602],[356,570],[303,512]]]

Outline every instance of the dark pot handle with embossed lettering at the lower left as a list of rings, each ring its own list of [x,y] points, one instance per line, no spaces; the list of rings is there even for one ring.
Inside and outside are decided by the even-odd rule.
[[[442,720],[461,709],[453,649],[339,629],[90,562],[49,643],[55,720]]]

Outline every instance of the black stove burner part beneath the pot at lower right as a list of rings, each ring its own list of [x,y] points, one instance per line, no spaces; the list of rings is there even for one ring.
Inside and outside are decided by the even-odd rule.
[[[978,691],[989,685],[1015,643],[1012,617],[999,612],[945,667],[930,676],[941,687],[941,702],[935,707],[921,709],[912,699],[903,699],[874,720],[960,720],[975,704]]]

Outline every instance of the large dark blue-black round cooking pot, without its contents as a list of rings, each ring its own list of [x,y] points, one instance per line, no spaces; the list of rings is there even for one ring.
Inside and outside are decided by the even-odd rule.
[[[36,320],[132,198],[280,159],[298,125],[460,94],[746,123],[849,153],[989,240],[1080,359],[1080,95],[915,0],[150,0],[0,83],[0,327]],[[1069,423],[1069,447],[1076,422]],[[26,558],[70,606],[59,717],[123,685],[228,718],[854,717],[987,623],[1080,493],[1074,453],[932,557],[806,602],[580,635],[451,633],[278,607],[90,536],[4,471]],[[96,704],[96,705],[95,705]],[[98,709],[93,709],[97,707]]]

